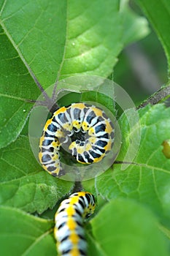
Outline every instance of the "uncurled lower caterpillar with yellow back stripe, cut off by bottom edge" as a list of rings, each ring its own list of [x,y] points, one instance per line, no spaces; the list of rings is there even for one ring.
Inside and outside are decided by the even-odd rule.
[[[95,199],[89,192],[76,192],[61,202],[55,214],[54,228],[59,255],[87,255],[83,222],[94,209]]]

